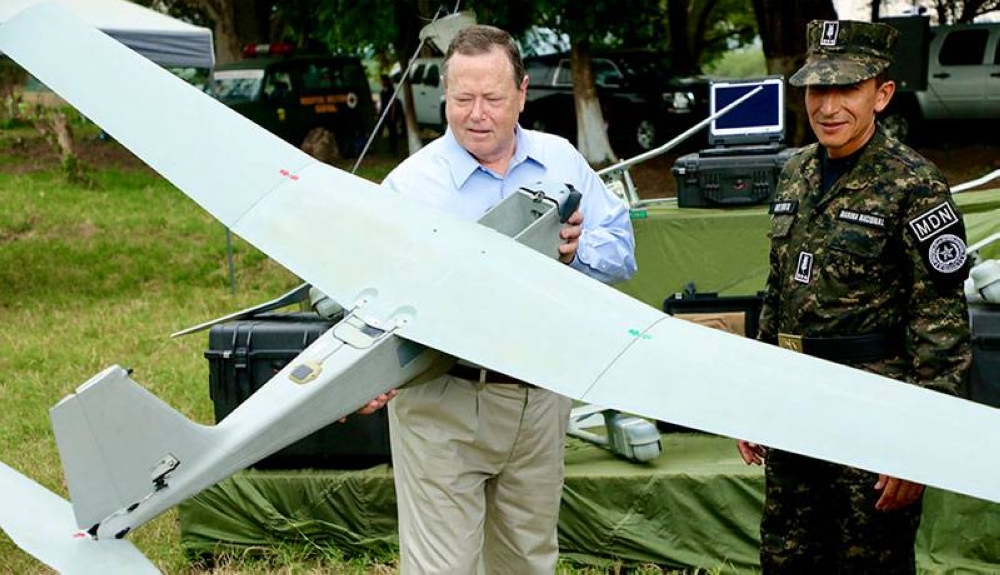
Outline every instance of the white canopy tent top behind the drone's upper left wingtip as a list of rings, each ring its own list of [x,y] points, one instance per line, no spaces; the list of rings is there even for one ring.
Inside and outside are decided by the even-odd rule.
[[[41,3],[60,4],[105,34],[166,67],[211,68],[212,31],[127,0],[0,0],[0,26]]]

